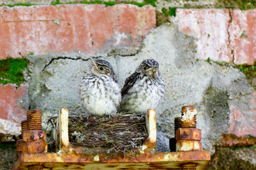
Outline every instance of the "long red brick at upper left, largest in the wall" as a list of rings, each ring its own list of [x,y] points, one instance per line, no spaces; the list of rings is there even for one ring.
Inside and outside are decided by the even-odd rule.
[[[0,60],[33,52],[108,52],[139,47],[156,26],[152,6],[67,4],[0,7]],[[59,19],[59,24],[56,23]]]

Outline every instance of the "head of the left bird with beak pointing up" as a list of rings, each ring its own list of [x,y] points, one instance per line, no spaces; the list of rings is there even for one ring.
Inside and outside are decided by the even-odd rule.
[[[92,57],[90,57],[90,61],[92,62],[92,74],[97,77],[107,75],[117,81],[117,75],[114,74],[112,65],[109,62],[105,60],[94,60]]]

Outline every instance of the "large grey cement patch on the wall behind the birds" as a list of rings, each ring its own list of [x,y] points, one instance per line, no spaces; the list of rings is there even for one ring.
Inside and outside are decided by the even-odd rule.
[[[210,149],[212,153],[231,125],[239,129],[253,123],[252,119],[242,119],[243,124],[232,120],[232,106],[247,107],[251,98],[246,96],[252,96],[254,91],[247,84],[245,75],[231,66],[196,60],[196,54],[193,36],[184,35],[177,23],[171,23],[151,30],[137,55],[94,56],[112,64],[120,86],[142,60],[159,62],[166,82],[166,95],[164,102],[156,108],[158,151],[169,151],[169,138],[174,137],[174,118],[181,116],[182,106],[197,107],[202,148]],[[28,67],[31,72],[31,109],[43,111],[43,122],[58,115],[60,108],[68,108],[70,115],[82,115],[78,87],[90,64],[88,55],[74,52],[68,55],[30,55],[27,58],[31,64]],[[240,134],[250,132],[243,130]]]

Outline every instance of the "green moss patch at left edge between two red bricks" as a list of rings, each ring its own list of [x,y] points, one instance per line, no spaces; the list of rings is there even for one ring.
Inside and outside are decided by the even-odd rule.
[[[6,59],[0,60],[0,84],[16,84],[20,86],[23,83],[23,71],[28,66],[25,59]]]

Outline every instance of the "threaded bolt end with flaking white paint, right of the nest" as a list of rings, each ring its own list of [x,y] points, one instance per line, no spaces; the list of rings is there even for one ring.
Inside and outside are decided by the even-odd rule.
[[[181,128],[196,128],[196,107],[183,106],[181,108]]]

